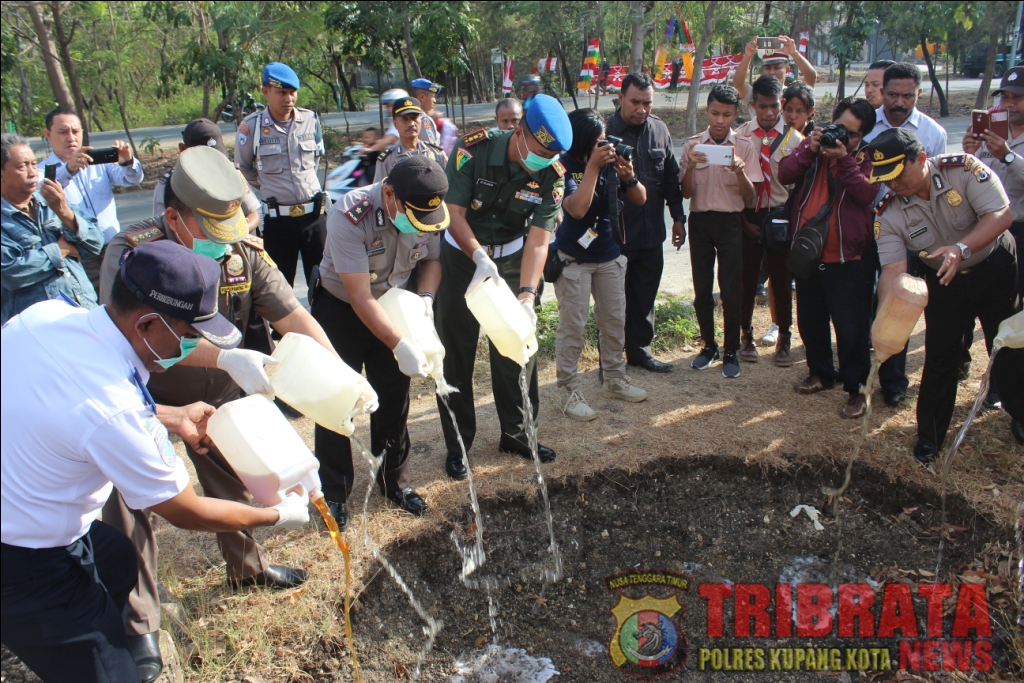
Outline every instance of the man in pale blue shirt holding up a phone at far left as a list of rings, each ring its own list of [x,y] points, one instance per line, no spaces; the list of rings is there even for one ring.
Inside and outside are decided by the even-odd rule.
[[[141,184],[144,174],[142,164],[132,156],[131,146],[114,140],[118,151],[116,164],[93,164],[89,151],[82,146],[82,122],[71,110],[56,109],[46,115],[43,137],[49,140],[53,152],[39,163],[44,171],[47,164],[57,164],[57,182],[65,188],[68,201],[96,217],[96,224],[103,231],[103,244],[121,230],[118,208],[114,202],[114,185],[129,187]],[[92,287],[99,291],[99,266],[103,255],[82,259],[85,272]]]

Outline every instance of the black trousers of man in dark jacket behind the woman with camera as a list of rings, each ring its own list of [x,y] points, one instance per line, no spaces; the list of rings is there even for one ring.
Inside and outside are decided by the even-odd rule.
[[[654,298],[662,286],[665,248],[622,249],[626,257],[626,359],[642,364],[652,358]]]

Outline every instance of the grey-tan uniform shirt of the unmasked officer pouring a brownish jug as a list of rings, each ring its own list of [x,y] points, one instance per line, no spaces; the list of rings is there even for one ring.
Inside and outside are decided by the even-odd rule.
[[[1009,205],[998,176],[971,155],[942,155],[928,160],[931,197],[888,196],[876,208],[874,232],[882,265],[906,258],[906,250],[922,256],[954,245],[970,234],[985,214]],[[962,268],[981,263],[996,242],[979,249]],[[941,259],[921,259],[933,269]]]

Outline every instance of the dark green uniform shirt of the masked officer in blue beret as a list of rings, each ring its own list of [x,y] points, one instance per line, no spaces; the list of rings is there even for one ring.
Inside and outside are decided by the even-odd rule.
[[[504,245],[529,232],[548,231],[565,191],[560,162],[529,173],[508,158],[512,131],[478,130],[464,135],[449,158],[445,173],[450,206],[466,209],[466,221],[482,245]]]

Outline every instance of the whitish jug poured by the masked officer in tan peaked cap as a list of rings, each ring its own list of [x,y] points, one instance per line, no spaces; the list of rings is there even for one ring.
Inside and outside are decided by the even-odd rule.
[[[266,369],[274,393],[321,427],[351,436],[352,418],[377,410],[367,378],[314,339],[289,332],[273,349],[281,360]]]

